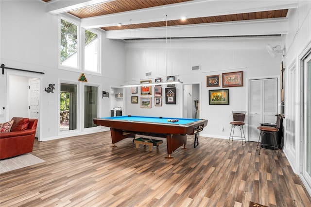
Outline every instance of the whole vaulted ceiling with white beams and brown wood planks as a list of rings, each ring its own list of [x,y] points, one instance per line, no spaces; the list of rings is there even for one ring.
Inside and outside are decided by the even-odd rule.
[[[280,36],[297,7],[297,0],[43,1],[48,13],[68,13],[110,39]]]

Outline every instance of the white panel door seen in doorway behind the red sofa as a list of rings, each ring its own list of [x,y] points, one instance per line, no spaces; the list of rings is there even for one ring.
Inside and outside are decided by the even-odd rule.
[[[29,118],[37,119],[37,130],[35,137],[39,139],[40,135],[40,124],[39,124],[39,108],[40,108],[40,80],[30,79],[29,80]]]

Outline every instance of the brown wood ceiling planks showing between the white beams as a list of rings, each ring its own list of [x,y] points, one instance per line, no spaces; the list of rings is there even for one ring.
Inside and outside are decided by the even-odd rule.
[[[50,0],[43,0],[49,2]],[[68,11],[69,14],[78,17],[80,19],[89,17],[98,17],[103,15],[111,15],[121,12],[134,11],[138,9],[146,9],[156,6],[164,6],[168,4],[182,3],[191,0],[112,0],[104,3],[87,6],[75,10]],[[286,17],[288,9],[270,10],[240,14],[230,14],[211,17],[196,17],[186,20],[175,19],[170,21],[157,21],[147,22],[140,24],[127,24],[120,26],[108,26],[101,27],[105,31],[112,30],[126,30],[126,29],[139,29],[139,28],[153,28],[164,26],[179,26],[179,25],[191,25],[191,24],[203,24],[203,23],[219,23],[228,21],[240,21],[251,19],[267,19],[267,18],[280,18]]]

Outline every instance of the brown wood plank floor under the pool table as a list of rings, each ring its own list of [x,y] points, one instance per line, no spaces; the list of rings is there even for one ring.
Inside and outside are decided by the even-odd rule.
[[[161,139],[161,138],[156,138]],[[311,198],[282,151],[257,142],[199,137],[167,156],[131,138],[111,148],[110,132],[35,141],[45,162],[0,174],[1,207],[310,207]]]

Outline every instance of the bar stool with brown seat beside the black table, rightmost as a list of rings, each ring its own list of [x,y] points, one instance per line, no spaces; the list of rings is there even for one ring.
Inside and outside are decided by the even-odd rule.
[[[258,150],[258,145],[260,144],[259,155],[260,155],[261,148],[263,148],[265,150],[274,150],[275,152],[277,150],[277,154],[278,154],[278,156],[280,156],[280,153],[278,150],[278,145],[277,145],[277,140],[276,140],[276,133],[278,132],[278,129],[280,128],[281,118],[282,118],[282,115],[278,114],[277,118],[276,118],[276,127],[273,127],[273,126],[259,126],[259,127],[257,127],[257,129],[260,130],[259,139],[258,139],[257,148],[256,148],[256,150]],[[273,145],[263,142],[263,136],[265,134],[272,134]],[[265,138],[268,138],[268,136],[265,136]],[[263,147],[261,147],[261,146],[263,146]]]

